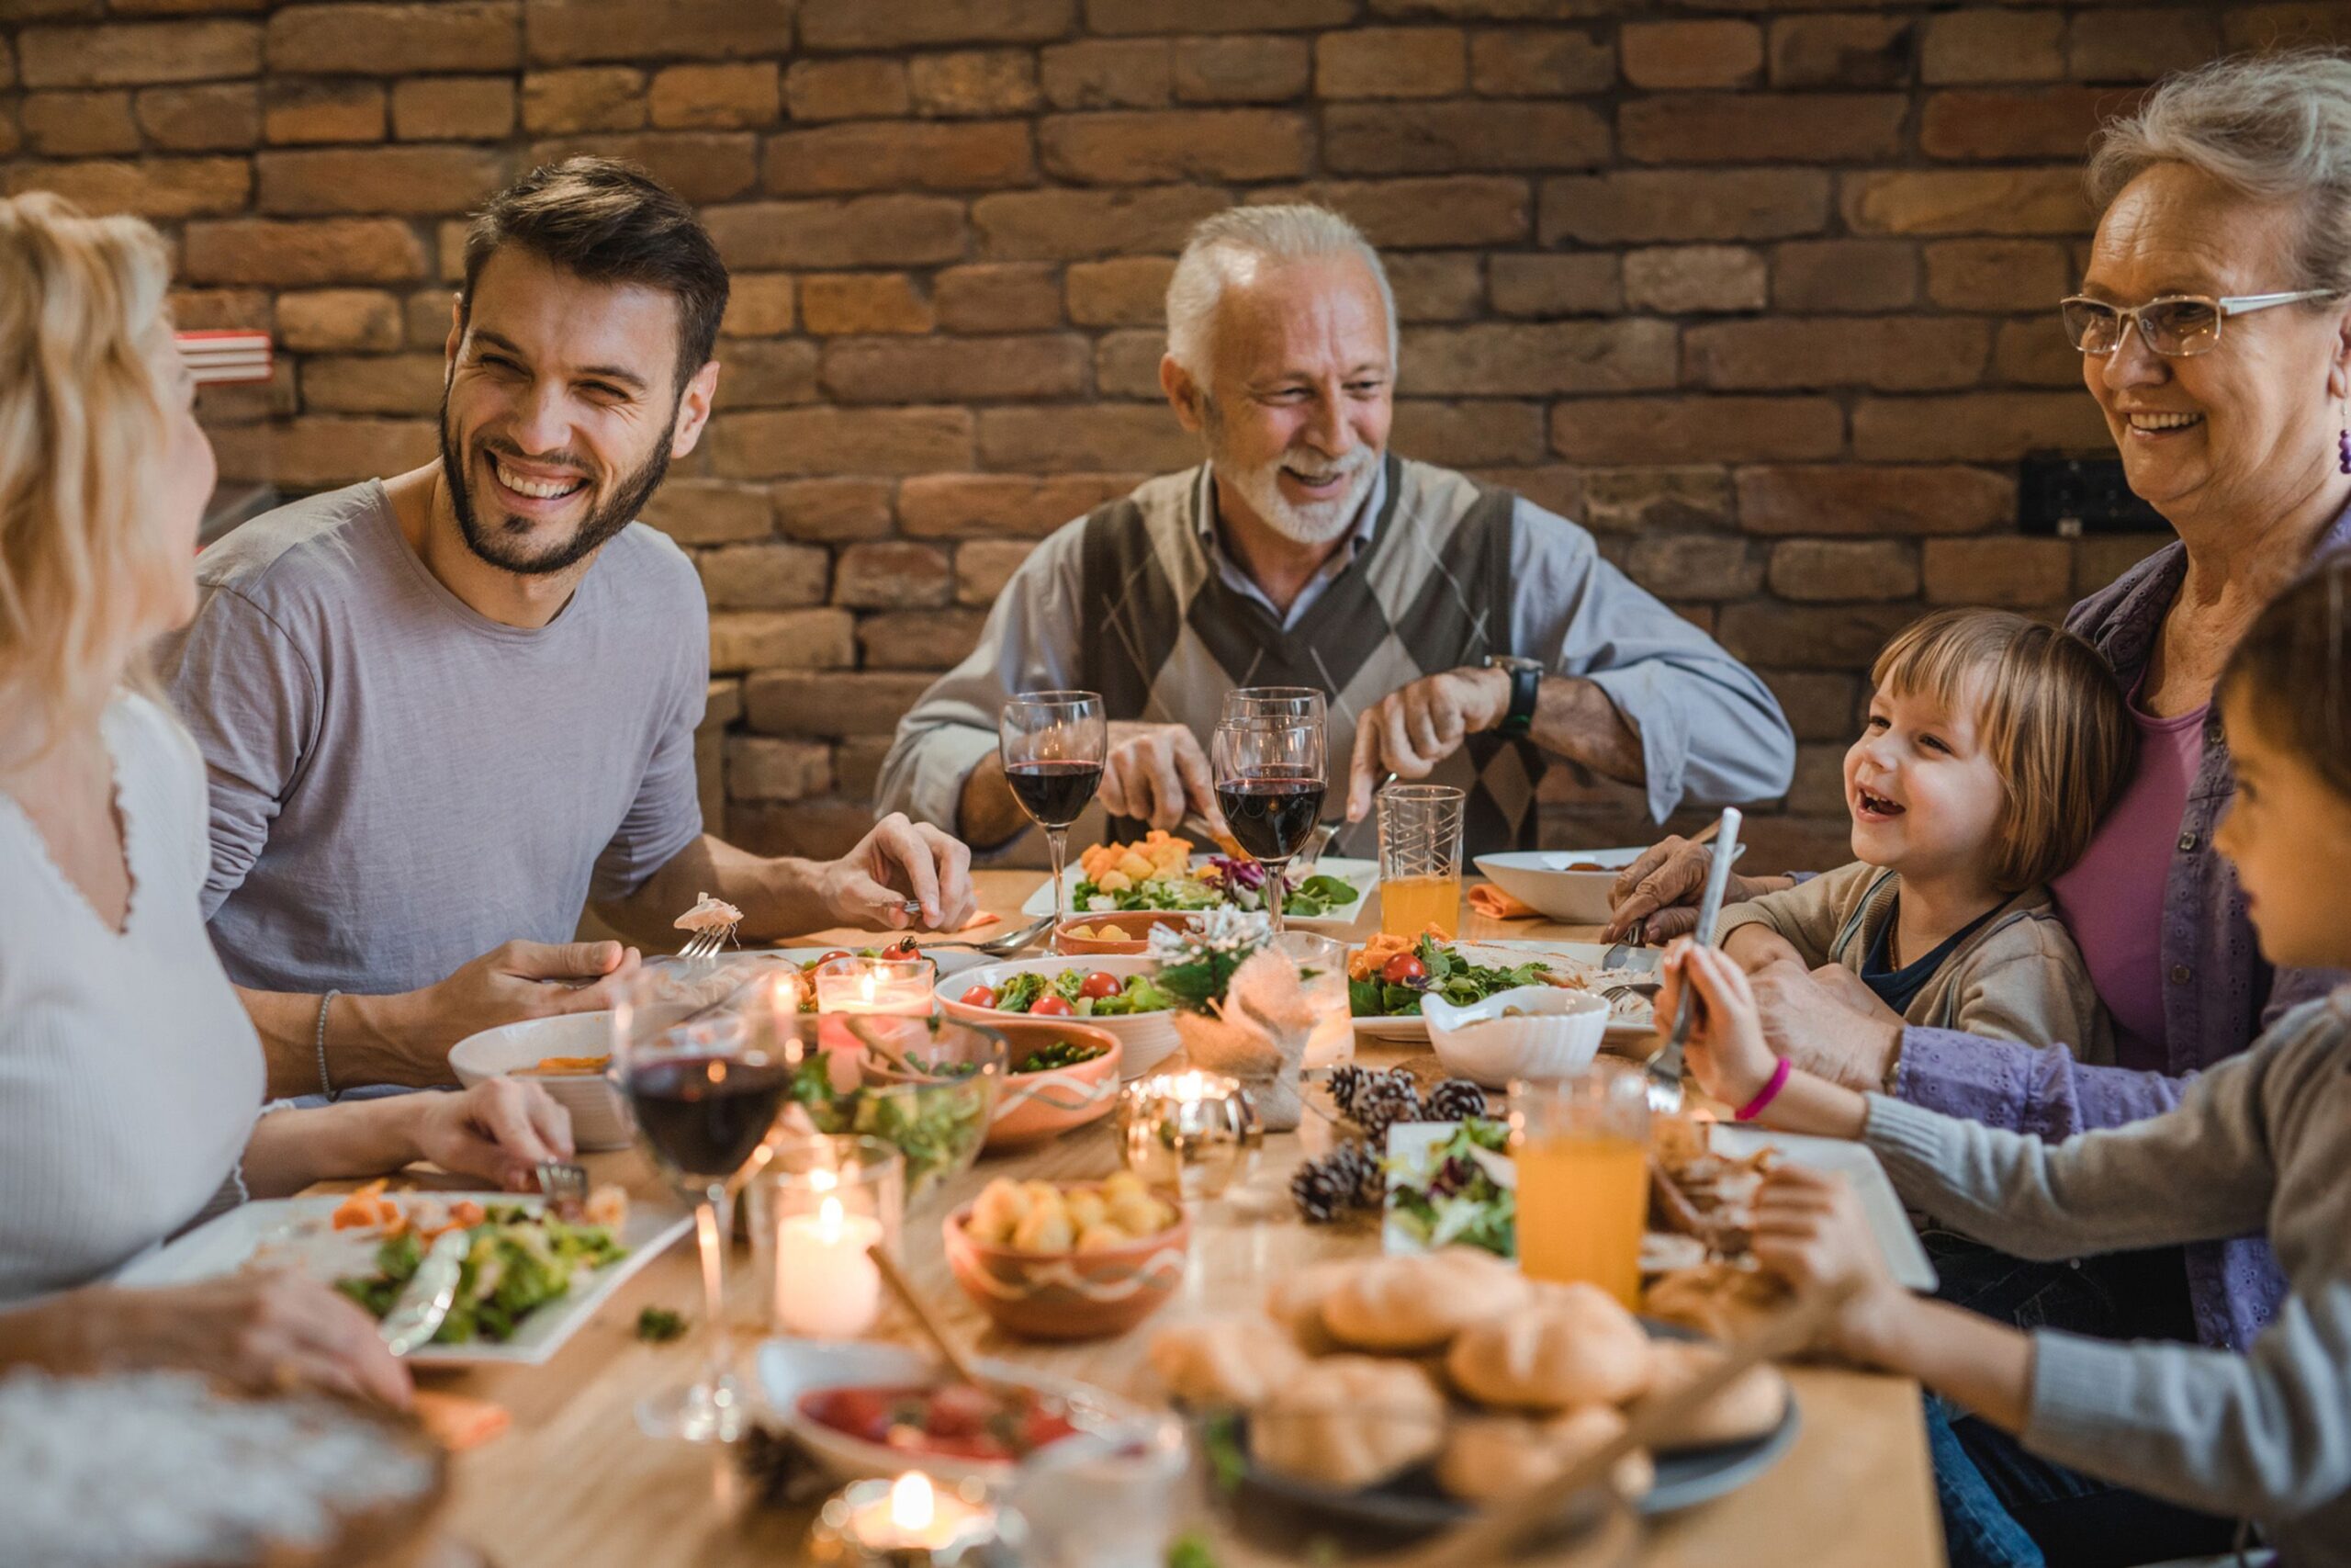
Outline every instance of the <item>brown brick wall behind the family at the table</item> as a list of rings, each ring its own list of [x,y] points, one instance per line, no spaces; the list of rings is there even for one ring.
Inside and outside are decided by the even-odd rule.
[[[0,0],[0,172],[162,223],[183,324],[277,331],[275,386],[205,409],[289,491],[430,456],[470,202],[571,150],[701,202],[722,411],[651,522],[710,590],[705,788],[790,851],[858,832],[1041,534],[1194,458],[1157,393],[1185,226],[1331,202],[1396,277],[1396,447],[1582,520],[1766,670],[1803,755],[1754,837],[1822,863],[1893,628],[2055,614],[2154,543],[2015,534],[2020,454],[2106,447],[2050,308],[2090,127],[2337,35],[2351,5]],[[1556,773],[1547,816],[1646,835]]]

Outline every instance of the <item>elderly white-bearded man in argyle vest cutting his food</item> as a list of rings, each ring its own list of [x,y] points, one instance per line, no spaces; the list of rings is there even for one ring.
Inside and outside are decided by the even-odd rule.
[[[1787,790],[1794,736],[1763,682],[1585,529],[1387,451],[1396,306],[1347,219],[1234,207],[1194,228],[1159,383],[1206,461],[1023,562],[898,726],[882,809],[1009,844],[1027,820],[997,710],[1067,686],[1112,719],[1103,806],[1154,827],[1220,820],[1204,745],[1234,686],[1328,696],[1349,823],[1385,771],[1465,788],[1472,853],[1533,846],[1549,757],[1641,785],[1660,820]]]

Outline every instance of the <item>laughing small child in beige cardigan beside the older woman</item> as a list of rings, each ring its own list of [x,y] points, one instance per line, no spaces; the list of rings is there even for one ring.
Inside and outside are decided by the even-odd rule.
[[[2048,879],[2130,776],[2132,726],[2097,651],[1994,609],[1900,632],[1846,752],[1853,865],[1723,910],[1723,952],[1843,966],[1886,1018],[2111,1060],[2111,1030]]]

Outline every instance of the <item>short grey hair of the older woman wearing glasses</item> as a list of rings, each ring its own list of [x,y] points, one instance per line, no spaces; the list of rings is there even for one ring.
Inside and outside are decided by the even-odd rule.
[[[2299,200],[2297,275],[2271,287],[2351,294],[2351,56],[2292,49],[2165,78],[2137,113],[2099,132],[2090,200],[2104,212],[2158,162],[2252,197]]]

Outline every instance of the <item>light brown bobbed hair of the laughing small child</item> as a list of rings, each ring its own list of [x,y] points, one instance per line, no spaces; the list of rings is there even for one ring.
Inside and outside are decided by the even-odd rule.
[[[1869,682],[1975,715],[2008,795],[1991,853],[1991,884],[2003,893],[2081,860],[2130,778],[2137,731],[2114,670],[2055,625],[2005,609],[1944,609],[1897,632]]]

